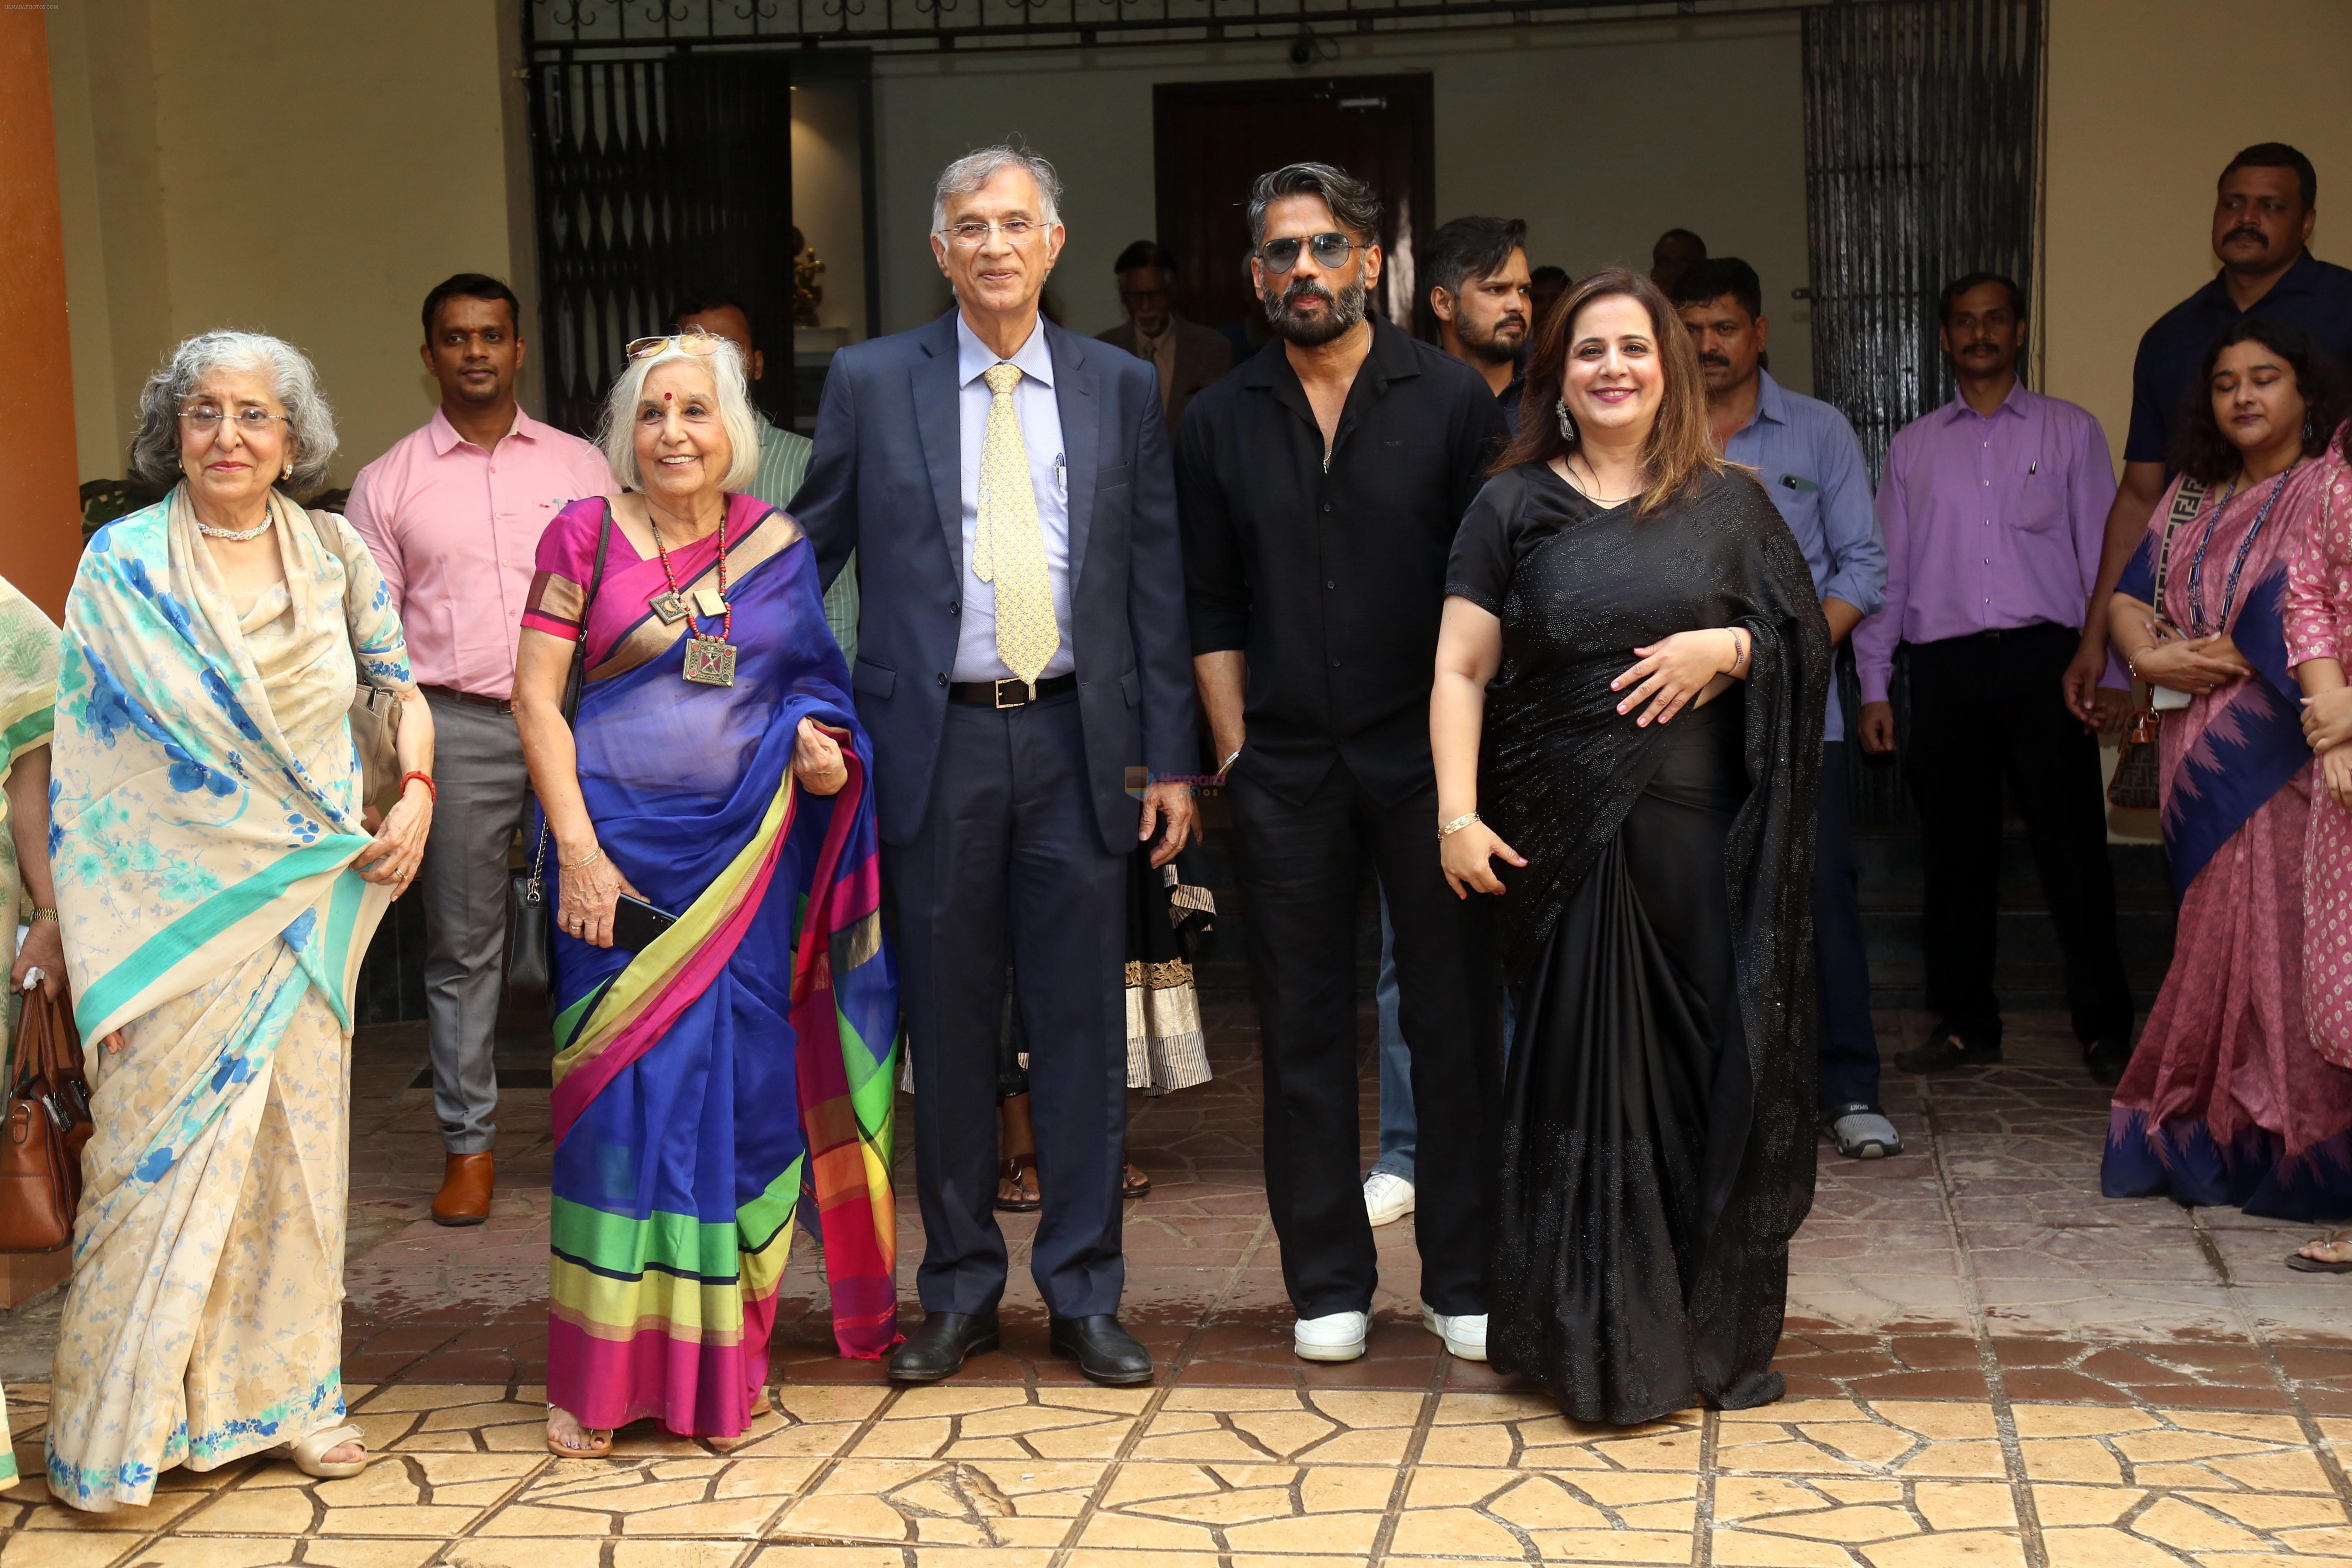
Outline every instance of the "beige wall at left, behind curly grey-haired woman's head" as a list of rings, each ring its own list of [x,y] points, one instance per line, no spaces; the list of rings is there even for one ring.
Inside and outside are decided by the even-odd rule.
[[[513,5],[245,0],[223,16],[172,0],[49,14],[80,470],[122,473],[139,386],[172,343],[249,327],[318,362],[348,484],[433,411],[426,289],[517,270]]]

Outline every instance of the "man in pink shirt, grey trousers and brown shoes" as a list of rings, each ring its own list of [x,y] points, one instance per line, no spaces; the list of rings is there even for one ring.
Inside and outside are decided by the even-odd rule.
[[[567,501],[612,491],[604,456],[515,407],[515,294],[459,273],[426,294],[423,362],[442,404],[360,470],[346,508],[409,637],[433,708],[437,827],[426,842],[426,1020],[447,1168],[433,1218],[489,1215],[506,957],[506,849],[529,776],[513,719],[515,635],[539,534]]]

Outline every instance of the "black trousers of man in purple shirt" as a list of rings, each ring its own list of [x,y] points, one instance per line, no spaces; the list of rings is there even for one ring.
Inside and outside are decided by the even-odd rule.
[[[2058,924],[2074,1037],[2131,1039],[2098,741],[2067,712],[2058,686],[2077,642],[2072,628],[2037,623],[1912,646],[1903,764],[1919,802],[1926,872],[1926,1004],[1971,1046],[2002,1044],[1992,947],[2004,778],[2025,813],[2042,898]]]

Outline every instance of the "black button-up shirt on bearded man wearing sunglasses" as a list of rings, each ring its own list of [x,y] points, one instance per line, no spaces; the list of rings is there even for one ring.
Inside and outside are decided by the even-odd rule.
[[[1501,440],[1486,378],[1378,317],[1329,465],[1282,339],[1192,400],[1176,435],[1192,651],[1249,656],[1237,769],[1287,799],[1338,759],[1381,804],[1430,788],[1446,555]]]

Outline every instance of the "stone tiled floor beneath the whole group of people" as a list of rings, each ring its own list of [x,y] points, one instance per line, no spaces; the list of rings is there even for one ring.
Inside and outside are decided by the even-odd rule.
[[[1823,1150],[1780,1347],[1790,1399],[1578,1427],[1418,1328],[1411,1222],[1381,1232],[1371,1354],[1287,1347],[1256,1178],[1247,1016],[1221,1079],[1138,1103],[1129,1321],[1157,1385],[1098,1389],[1044,1352],[1009,1218],[1007,1347],[946,1387],[833,1356],[811,1255],[786,1284],[776,1403],[731,1453],[637,1427],[555,1460],[543,1403],[546,1091],[501,1112],[492,1225],[423,1220],[437,1173],[412,1032],[355,1072],[348,1363],[383,1458],[308,1483],[247,1460],[174,1472],[148,1509],[0,1495],[0,1568],[2138,1568],[2352,1561],[2352,1279],[2307,1232],[2098,1197],[2105,1100],[2049,1018],[1976,1079],[1889,1081],[1893,1161]],[[1884,1016],[1889,1056],[1924,1020]],[[1369,1103],[1367,1103],[1369,1131]],[[920,1253],[903,1220],[903,1267]],[[910,1291],[908,1291],[910,1295]],[[40,1307],[0,1324],[38,1469]]]

